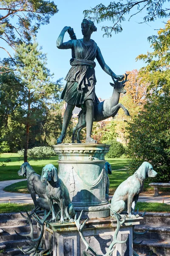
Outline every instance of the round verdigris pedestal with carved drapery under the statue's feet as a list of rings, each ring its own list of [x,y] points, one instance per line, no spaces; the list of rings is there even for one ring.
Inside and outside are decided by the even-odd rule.
[[[83,210],[82,218],[108,217],[105,199],[106,144],[58,144],[53,146],[59,156],[59,177],[67,186],[75,211]]]

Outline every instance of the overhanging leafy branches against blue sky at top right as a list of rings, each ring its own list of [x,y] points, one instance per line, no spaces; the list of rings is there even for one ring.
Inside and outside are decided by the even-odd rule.
[[[167,8],[166,2],[170,0],[126,0],[111,2],[108,6],[100,3],[99,5],[85,10],[85,17],[91,20],[96,20],[97,23],[109,20],[113,23],[112,26],[102,26],[107,36],[111,36],[112,32],[118,33],[122,31],[122,22],[125,21],[126,15],[129,15],[129,20],[134,15],[144,10],[146,15],[143,17],[143,22],[154,21],[157,18],[170,17],[170,8]]]

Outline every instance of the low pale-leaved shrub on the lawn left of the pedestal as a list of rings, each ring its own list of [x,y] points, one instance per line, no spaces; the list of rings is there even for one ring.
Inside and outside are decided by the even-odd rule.
[[[21,157],[24,156],[24,151],[18,151]],[[55,152],[51,147],[34,147],[28,149],[28,158],[30,160],[38,161],[38,160],[45,160],[49,159],[51,156],[54,156]]]

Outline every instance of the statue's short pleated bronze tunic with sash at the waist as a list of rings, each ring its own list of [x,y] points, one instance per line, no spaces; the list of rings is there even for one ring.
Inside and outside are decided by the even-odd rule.
[[[95,93],[96,76],[94,67],[96,63],[97,44],[86,46],[82,40],[76,40],[74,44],[74,58],[71,58],[71,69],[65,80],[67,81],[62,92],[61,99],[71,105],[83,107],[87,99],[93,100],[94,104],[99,103]]]

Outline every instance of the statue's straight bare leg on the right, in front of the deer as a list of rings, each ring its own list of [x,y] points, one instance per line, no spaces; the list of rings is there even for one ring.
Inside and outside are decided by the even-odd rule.
[[[96,140],[91,138],[91,131],[93,127],[93,120],[94,120],[94,102],[91,99],[86,100],[86,143],[97,143]]]

